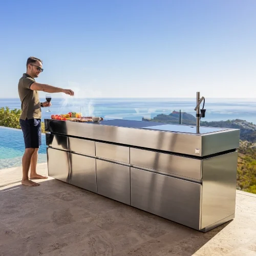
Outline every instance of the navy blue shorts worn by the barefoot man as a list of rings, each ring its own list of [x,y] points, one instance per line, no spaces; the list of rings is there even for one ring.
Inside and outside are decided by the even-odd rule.
[[[19,119],[22,127],[25,148],[39,148],[41,143],[41,119]]]

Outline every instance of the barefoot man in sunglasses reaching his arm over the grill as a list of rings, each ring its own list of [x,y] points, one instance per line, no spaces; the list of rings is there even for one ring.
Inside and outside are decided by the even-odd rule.
[[[34,78],[38,77],[42,71],[42,61],[35,57],[29,57],[27,60],[27,72],[23,74],[18,82],[18,94],[22,102],[22,114],[20,115],[19,123],[22,127],[25,141],[25,153],[22,158],[22,184],[27,186],[39,185],[29,180],[30,166],[30,179],[47,179],[47,177],[36,173],[36,164],[38,149],[41,145],[41,108],[50,106],[51,103],[47,101],[41,103],[38,91],[74,95],[74,92],[70,89],[61,89],[36,82]]]

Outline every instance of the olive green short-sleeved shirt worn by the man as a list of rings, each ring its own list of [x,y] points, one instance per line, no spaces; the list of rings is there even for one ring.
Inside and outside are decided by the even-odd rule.
[[[22,102],[22,114],[20,115],[20,119],[23,120],[26,120],[26,118],[41,119],[41,106],[38,92],[30,89],[33,82],[35,82],[35,79],[26,73],[23,74],[18,82],[18,94]]]

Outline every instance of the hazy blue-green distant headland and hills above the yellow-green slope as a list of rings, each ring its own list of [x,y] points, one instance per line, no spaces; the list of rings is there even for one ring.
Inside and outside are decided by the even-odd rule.
[[[143,121],[153,121],[153,122],[164,122],[164,123],[173,123],[179,124],[180,113],[172,112],[169,115],[160,114],[154,117],[153,119],[142,118]],[[201,119],[202,120],[202,119]],[[185,125],[196,125],[196,117],[183,112],[182,113],[182,124]],[[222,127],[222,128],[231,128],[231,129],[240,129],[240,139],[247,140],[252,143],[256,143],[256,125],[245,120],[226,120],[226,121],[201,121],[201,126],[209,127]]]

